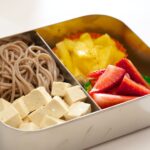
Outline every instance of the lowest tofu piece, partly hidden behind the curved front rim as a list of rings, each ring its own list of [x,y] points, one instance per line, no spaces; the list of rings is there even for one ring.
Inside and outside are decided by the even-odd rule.
[[[20,130],[23,130],[23,131],[35,131],[35,130],[38,130],[40,129],[36,124],[34,124],[33,122],[23,122],[20,127],[19,127]]]

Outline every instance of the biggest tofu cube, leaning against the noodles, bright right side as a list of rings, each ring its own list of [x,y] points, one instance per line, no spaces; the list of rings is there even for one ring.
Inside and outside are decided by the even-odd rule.
[[[51,96],[44,87],[38,87],[24,96],[24,103],[30,112],[47,105],[51,101]]]

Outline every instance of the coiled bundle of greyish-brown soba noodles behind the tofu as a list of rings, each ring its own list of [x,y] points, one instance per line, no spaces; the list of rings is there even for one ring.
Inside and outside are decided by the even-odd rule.
[[[0,46],[0,97],[13,102],[38,86],[50,92],[58,80],[63,76],[44,48],[23,41]]]

